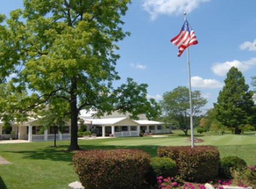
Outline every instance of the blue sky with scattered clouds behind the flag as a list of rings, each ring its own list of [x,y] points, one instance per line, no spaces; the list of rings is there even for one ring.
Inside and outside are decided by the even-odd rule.
[[[192,90],[213,107],[228,70],[235,66],[250,85],[256,76],[256,1],[250,0],[134,0],[124,16],[131,36],[118,43],[116,69],[121,80],[147,83],[148,96],[161,100],[165,92],[189,86],[187,52],[178,58],[170,40],[184,23],[184,12],[198,39],[189,47]],[[22,8],[21,0],[2,1],[1,14]],[[250,89],[253,88],[250,85]]]

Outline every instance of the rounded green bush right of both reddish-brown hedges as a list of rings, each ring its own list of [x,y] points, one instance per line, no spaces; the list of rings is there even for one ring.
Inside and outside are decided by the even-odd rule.
[[[232,178],[230,169],[240,170],[243,167],[247,167],[247,163],[242,158],[237,156],[223,157],[220,161],[220,176]]]

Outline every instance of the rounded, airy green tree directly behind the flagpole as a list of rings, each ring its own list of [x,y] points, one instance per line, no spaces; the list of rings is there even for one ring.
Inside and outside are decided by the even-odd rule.
[[[207,103],[207,100],[201,96],[201,92],[195,90],[191,92],[192,97],[192,116],[198,116],[201,113],[202,107]],[[190,128],[190,103],[188,87],[179,86],[170,92],[165,92],[163,100],[160,102],[162,112],[165,118],[168,118],[169,123],[176,124],[179,129],[182,129],[185,136],[188,135]]]

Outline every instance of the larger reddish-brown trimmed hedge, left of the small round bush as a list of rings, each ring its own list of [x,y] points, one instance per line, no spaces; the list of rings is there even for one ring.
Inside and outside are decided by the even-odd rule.
[[[75,173],[85,188],[141,188],[150,155],[136,149],[86,150],[73,156]]]

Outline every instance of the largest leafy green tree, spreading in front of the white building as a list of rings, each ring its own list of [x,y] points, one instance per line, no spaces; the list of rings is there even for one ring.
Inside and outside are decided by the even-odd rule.
[[[79,150],[77,131],[81,109],[96,109],[101,116],[119,110],[132,117],[158,114],[147,85],[128,78],[114,89],[120,77],[117,42],[129,35],[121,20],[130,0],[24,0],[10,18],[0,15],[0,77],[15,74],[10,84],[16,92],[30,90],[15,104],[17,112],[31,116],[46,104],[64,103],[58,110],[71,119],[71,144]],[[56,100],[58,99],[58,100]],[[4,110],[5,113],[11,109]],[[64,112],[62,112],[64,111]]]

